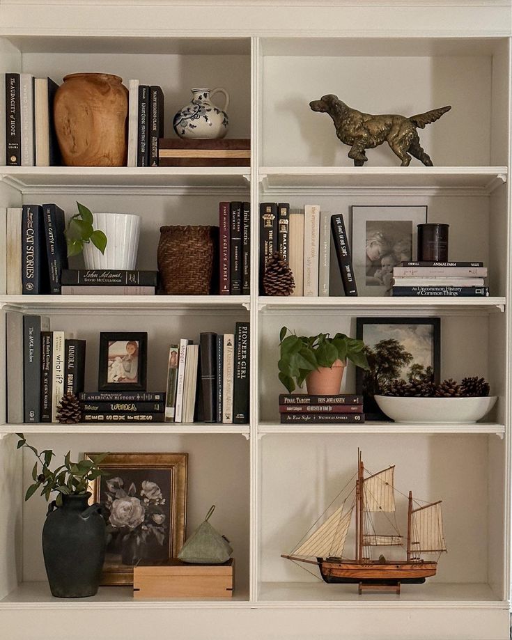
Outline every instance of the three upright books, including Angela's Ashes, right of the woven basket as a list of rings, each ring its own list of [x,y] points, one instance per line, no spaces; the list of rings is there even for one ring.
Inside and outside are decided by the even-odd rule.
[[[251,292],[251,207],[248,202],[219,203],[219,293]]]

